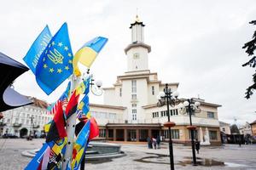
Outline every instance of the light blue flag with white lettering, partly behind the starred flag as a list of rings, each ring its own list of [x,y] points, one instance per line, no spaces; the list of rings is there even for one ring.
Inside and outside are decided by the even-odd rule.
[[[36,74],[36,68],[38,65],[38,60],[41,54],[44,52],[44,49],[48,46],[50,39],[52,38],[49,31],[49,27],[45,26],[44,30],[39,34],[37,39],[32,43],[31,48],[29,48],[26,56],[23,60],[26,62],[26,65],[31,69],[31,71]]]

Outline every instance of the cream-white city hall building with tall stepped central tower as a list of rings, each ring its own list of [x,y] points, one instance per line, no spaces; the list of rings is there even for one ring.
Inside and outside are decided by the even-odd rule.
[[[104,89],[104,105],[90,104],[90,112],[96,117],[100,127],[98,139],[113,141],[146,141],[148,137],[160,136],[162,140],[169,139],[167,127],[166,105],[157,106],[157,95],[166,86],[166,82],[158,79],[156,72],[148,68],[148,54],[151,47],[144,42],[144,27],[137,19],[131,24],[131,43],[125,48],[127,57],[127,71],[118,76],[113,87]],[[177,90],[178,82],[168,82],[169,88]],[[208,145],[221,144],[218,122],[218,107],[200,101],[199,113],[192,116],[196,126],[195,138],[201,143],[208,141]],[[189,115],[181,111],[180,105],[171,107],[171,121],[176,123],[172,127],[173,142],[190,144],[187,126]]]

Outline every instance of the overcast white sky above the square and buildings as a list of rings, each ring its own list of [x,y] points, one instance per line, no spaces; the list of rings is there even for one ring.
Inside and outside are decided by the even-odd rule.
[[[90,68],[103,87],[111,87],[127,70],[124,49],[131,42],[129,26],[136,14],[143,21],[145,43],[151,46],[149,69],[162,82],[179,82],[181,98],[200,97],[222,105],[220,121],[243,124],[256,120],[256,94],[245,99],[253,68],[241,47],[253,36],[254,0],[0,0],[0,51],[26,65],[22,58],[44,26],[54,34],[67,22],[75,53],[93,37],[108,43]],[[20,94],[54,102],[67,81],[49,96],[41,90],[32,71],[15,81]],[[90,95],[91,103],[103,99]]]

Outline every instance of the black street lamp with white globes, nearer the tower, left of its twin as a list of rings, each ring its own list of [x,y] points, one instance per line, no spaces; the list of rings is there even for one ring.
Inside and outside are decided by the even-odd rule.
[[[175,122],[170,122],[170,109],[169,105],[172,107],[175,106],[177,102],[177,92],[172,92],[171,88],[168,88],[168,84],[166,83],[166,88],[164,88],[163,92],[160,92],[158,95],[158,103],[157,105],[159,107],[166,105],[167,106],[167,116],[168,116],[168,122],[164,123],[165,127],[168,127],[168,136],[169,136],[169,153],[170,153],[170,165],[171,170],[174,170],[174,161],[173,161],[173,147],[172,147],[172,135],[171,135],[171,127],[175,126]]]

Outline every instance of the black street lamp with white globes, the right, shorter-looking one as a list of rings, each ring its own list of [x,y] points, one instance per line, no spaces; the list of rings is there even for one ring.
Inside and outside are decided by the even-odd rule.
[[[186,101],[183,102],[183,107],[186,109],[186,112],[189,112],[189,125],[187,128],[190,130],[191,134],[191,146],[192,146],[192,156],[193,156],[193,165],[196,166],[196,156],[195,156],[195,140],[194,140],[194,132],[196,126],[192,125],[192,114],[195,112],[200,112],[199,109],[200,102],[194,101],[193,99],[187,99]]]

